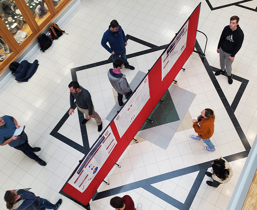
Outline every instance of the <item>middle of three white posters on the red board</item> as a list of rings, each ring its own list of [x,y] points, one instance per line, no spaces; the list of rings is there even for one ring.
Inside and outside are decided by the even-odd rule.
[[[131,96],[129,101],[126,102],[119,114],[114,119],[114,123],[122,137],[131,123],[140,113],[146,102],[150,99],[149,80],[148,75],[139,85],[136,92]]]

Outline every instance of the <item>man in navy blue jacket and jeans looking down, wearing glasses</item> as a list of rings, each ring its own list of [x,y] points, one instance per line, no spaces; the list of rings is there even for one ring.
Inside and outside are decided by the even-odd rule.
[[[110,47],[106,44],[109,43]],[[121,56],[121,59],[124,61],[124,67],[127,69],[134,70],[135,67],[129,65],[126,57],[126,48],[127,38],[125,33],[117,20],[112,20],[110,23],[109,29],[103,34],[101,45],[112,54],[112,63],[114,67],[114,61]],[[114,67],[115,68],[115,67]]]

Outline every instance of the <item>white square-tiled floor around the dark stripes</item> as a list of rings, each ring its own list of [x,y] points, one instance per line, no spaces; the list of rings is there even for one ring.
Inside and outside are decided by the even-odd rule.
[[[39,60],[40,65],[29,82],[19,83],[12,78],[0,90],[1,115],[12,115],[21,125],[26,125],[29,143],[41,147],[42,150],[38,152],[39,157],[47,162],[46,167],[41,167],[9,146],[0,147],[0,197],[4,196],[6,190],[28,187],[31,187],[37,195],[50,199],[53,203],[63,197],[58,192],[72,174],[78,160],[84,155],[55,139],[49,133],[69,108],[67,86],[72,80],[70,69],[110,57],[110,53],[100,45],[100,42],[111,20],[117,19],[125,34],[161,46],[171,41],[199,2],[199,0],[82,0],[79,8],[60,26],[68,34],[55,40],[45,53],[41,54],[38,51],[30,58],[31,62],[34,59]],[[210,2],[213,7],[221,5],[221,1]],[[234,2],[236,1],[227,0],[222,4]],[[256,2],[249,1],[242,5],[255,8]],[[245,34],[243,46],[232,65],[232,73],[249,80],[235,115],[252,145],[257,134],[257,13],[238,6],[211,11],[206,2],[202,1],[198,30],[208,36],[206,58],[209,64],[219,68],[219,58],[216,53],[218,39],[232,15],[240,17],[239,25]],[[205,37],[197,34],[197,40],[204,49]],[[145,49],[149,48],[130,40],[126,47],[127,54]],[[161,53],[162,50],[130,58],[129,63],[136,69],[123,70],[128,81],[134,78],[138,70],[147,72]],[[108,64],[77,72],[79,83],[92,94],[95,110],[102,117],[104,127],[109,123],[104,119],[115,104],[106,73],[111,67],[112,64]],[[216,145],[216,151],[206,152],[203,150],[203,143],[190,139],[188,135],[194,133],[193,129],[177,132],[167,150],[148,141],[130,145],[118,161],[122,167],[114,167],[108,174],[106,181],[110,185],[102,184],[98,191],[244,151],[239,136],[199,56],[193,53],[184,67],[186,71],[180,71],[176,79],[180,88],[197,94],[189,108],[192,118],[198,116],[204,108],[212,108],[215,111],[215,133],[211,141]],[[225,76],[220,75],[216,78],[231,104],[240,83],[234,80],[232,85],[228,85]],[[92,145],[99,135],[94,120],[89,121],[86,127],[89,143]],[[59,132],[83,145],[77,112],[68,118]],[[229,183],[220,185],[218,188],[207,186],[206,180],[209,178],[205,177],[190,209],[225,210],[245,160],[246,158],[230,162],[234,176]],[[184,202],[184,195],[188,194],[196,176],[197,172],[194,172],[157,182],[152,186]],[[124,192],[119,196],[125,194],[131,195],[135,204],[141,203],[144,210],[176,209],[143,188]],[[63,199],[60,209],[81,209],[69,199],[65,197]],[[91,208],[113,209],[109,201],[110,197],[93,201]],[[0,204],[1,210],[6,209],[3,200]]]

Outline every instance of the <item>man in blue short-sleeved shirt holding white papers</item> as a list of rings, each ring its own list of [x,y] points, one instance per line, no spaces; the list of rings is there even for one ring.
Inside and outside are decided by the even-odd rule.
[[[13,117],[4,115],[0,117],[0,146],[9,144],[9,146],[22,151],[29,158],[38,162],[41,166],[45,166],[46,162],[40,159],[34,152],[41,150],[39,147],[32,148],[29,146],[28,137],[25,132],[20,136],[14,136],[16,128],[20,128],[17,120]]]

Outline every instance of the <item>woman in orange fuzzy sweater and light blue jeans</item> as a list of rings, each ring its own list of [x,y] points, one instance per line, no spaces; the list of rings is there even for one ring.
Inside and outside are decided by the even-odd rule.
[[[193,128],[195,129],[195,132],[198,134],[196,135],[190,135],[191,139],[196,139],[200,141],[201,139],[206,143],[206,147],[204,147],[207,151],[214,151],[215,146],[211,142],[210,138],[213,135],[214,132],[214,120],[215,115],[213,113],[213,110],[206,108],[201,112],[201,115],[198,117],[198,119],[193,119]]]

